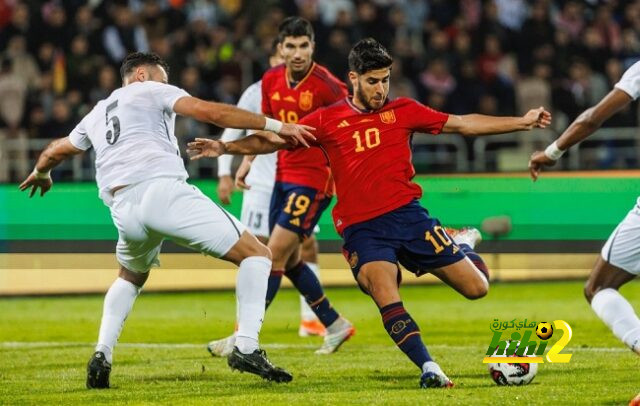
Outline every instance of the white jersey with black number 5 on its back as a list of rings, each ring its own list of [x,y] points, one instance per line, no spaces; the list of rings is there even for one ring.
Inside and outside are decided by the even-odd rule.
[[[73,129],[69,140],[76,148],[95,149],[96,181],[108,206],[116,186],[188,177],[174,135],[173,105],[184,96],[161,82],[134,82],[98,102]]]

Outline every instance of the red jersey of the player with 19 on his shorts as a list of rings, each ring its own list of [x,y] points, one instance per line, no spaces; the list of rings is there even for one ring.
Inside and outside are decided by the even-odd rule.
[[[295,87],[289,83],[286,66],[279,65],[262,77],[262,112],[285,123],[297,123],[347,94],[346,85],[317,63]],[[276,180],[333,194],[331,171],[320,148],[279,151]]]

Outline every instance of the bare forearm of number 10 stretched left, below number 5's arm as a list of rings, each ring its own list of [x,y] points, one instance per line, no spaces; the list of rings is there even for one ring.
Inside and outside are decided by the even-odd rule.
[[[280,138],[269,131],[259,131],[248,137],[233,142],[222,142],[207,138],[196,138],[187,144],[187,153],[191,160],[201,158],[217,158],[223,154],[260,155],[269,154],[279,149],[290,148],[288,140]]]

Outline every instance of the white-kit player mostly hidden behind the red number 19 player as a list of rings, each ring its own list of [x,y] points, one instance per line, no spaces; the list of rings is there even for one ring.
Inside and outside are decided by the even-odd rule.
[[[280,65],[284,60],[278,55],[278,40],[274,40],[269,57],[271,67]],[[237,106],[257,114],[262,114],[262,81],[250,85],[240,96]],[[235,141],[248,132],[243,129],[227,128],[222,133],[221,141]],[[223,204],[231,203],[231,193],[235,185],[243,189],[242,211],[240,221],[258,239],[266,244],[269,240],[269,207],[276,177],[277,153],[245,157],[238,169],[236,180],[231,176],[232,155],[218,158],[218,198]],[[317,226],[316,226],[317,227]],[[312,236],[304,241],[302,260],[309,265],[318,278],[317,264],[318,246]],[[311,310],[304,297],[300,296],[300,336],[324,334],[324,326]],[[233,339],[213,340],[207,345],[213,356],[226,357],[233,350]]]

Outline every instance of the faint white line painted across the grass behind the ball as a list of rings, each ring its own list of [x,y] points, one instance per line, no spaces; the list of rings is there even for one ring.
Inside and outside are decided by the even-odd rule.
[[[87,343],[80,341],[0,341],[0,348],[51,348],[51,347],[91,347],[95,343]],[[118,343],[120,348],[204,348],[205,343]],[[317,348],[318,344],[285,344],[285,343],[264,343],[261,347],[267,349],[307,349]],[[372,347],[389,347],[392,345],[373,344]],[[429,348],[439,348],[445,350],[482,350],[483,346],[475,345],[447,345],[447,344],[430,344]],[[575,347],[565,348],[564,352],[629,352],[628,349],[622,347]]]

